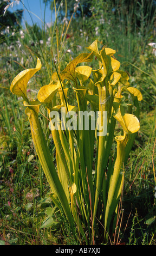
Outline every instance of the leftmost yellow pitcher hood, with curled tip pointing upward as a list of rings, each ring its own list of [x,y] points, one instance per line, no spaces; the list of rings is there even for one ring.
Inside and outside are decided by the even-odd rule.
[[[27,99],[27,84],[32,76],[41,69],[40,59],[37,58],[37,65],[35,69],[26,69],[20,72],[12,81],[10,90],[11,93],[17,96],[22,96],[24,100]]]

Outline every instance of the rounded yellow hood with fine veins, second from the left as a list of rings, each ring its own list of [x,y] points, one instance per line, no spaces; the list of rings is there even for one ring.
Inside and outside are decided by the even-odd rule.
[[[53,100],[53,97],[57,90],[61,88],[60,81],[57,81],[55,84],[47,84],[46,86],[41,87],[41,89],[38,92],[38,100],[40,102],[46,102],[49,103],[51,100]]]

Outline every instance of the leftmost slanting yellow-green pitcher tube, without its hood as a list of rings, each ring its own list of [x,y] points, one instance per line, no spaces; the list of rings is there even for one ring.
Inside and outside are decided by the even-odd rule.
[[[73,229],[72,212],[69,208],[68,200],[59,180],[59,176],[57,175],[54,163],[51,159],[50,151],[48,149],[46,139],[44,138],[43,130],[40,121],[38,120],[38,114],[35,111],[35,107],[27,107],[25,109],[25,113],[28,115],[36,153],[51,187],[51,191],[59,198],[70,227]]]

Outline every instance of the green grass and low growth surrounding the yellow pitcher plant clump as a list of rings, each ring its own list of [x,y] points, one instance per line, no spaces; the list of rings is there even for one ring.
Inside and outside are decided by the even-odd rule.
[[[140,103],[140,131],[125,166],[118,227],[109,243],[156,245],[154,196],[156,112],[155,92],[151,87],[153,80],[150,77],[155,75],[151,69],[155,59],[147,45],[143,49],[135,47],[139,40],[137,34],[129,31],[126,35],[123,26],[122,36],[115,38],[115,28],[112,28],[111,24],[107,24],[106,31],[96,22],[92,19],[90,27],[99,26],[99,38],[102,43],[106,43],[106,38],[108,47],[115,46],[119,60],[122,62],[121,67],[130,74],[132,86],[137,86],[143,95],[143,101]],[[23,67],[25,69],[35,67],[34,55],[37,55],[41,58],[42,71],[37,73],[28,87],[30,96],[34,97],[43,84],[49,83],[54,72],[51,51],[57,60],[56,64],[60,65],[62,70],[66,62],[72,60],[77,53],[83,52],[85,47],[96,39],[95,29],[88,30],[87,35],[84,33],[87,26],[89,24],[86,25],[82,19],[79,24],[76,20],[71,20],[69,28],[67,25],[64,27],[64,33],[68,32],[71,35],[67,39],[66,36],[64,38],[61,36],[63,29],[61,22],[55,23],[47,31],[36,26],[30,28],[27,25],[24,39],[20,38],[19,33],[16,37],[10,34],[6,35],[5,41],[0,45],[0,243],[2,244],[5,240],[6,244],[11,245],[79,245],[79,242],[71,237],[63,213],[55,209],[50,199],[50,187],[35,153],[29,122],[20,103],[22,99],[12,95],[9,88],[11,81],[23,70]],[[114,33],[109,33],[107,38],[106,34],[110,27],[112,31],[114,29]],[[83,30],[80,32],[78,28]],[[141,36],[144,39],[143,32]],[[148,38],[146,35],[146,41],[154,41],[154,39],[152,32]],[[44,41],[43,45],[40,40]],[[60,44],[58,44],[59,40]],[[68,51],[69,49],[71,51]],[[141,56],[145,61],[142,61]],[[148,90],[147,83],[150,88]],[[72,97],[70,100],[72,101]],[[44,117],[44,114],[42,109],[40,120],[55,163],[54,145],[49,137],[47,116]]]

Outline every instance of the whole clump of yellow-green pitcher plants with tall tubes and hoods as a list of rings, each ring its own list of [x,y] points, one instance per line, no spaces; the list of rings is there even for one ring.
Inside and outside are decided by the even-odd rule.
[[[124,170],[140,128],[142,95],[130,86],[127,73],[119,70],[115,50],[99,50],[98,40],[87,50],[62,71],[54,63],[51,81],[40,88],[37,99],[28,97],[27,84],[42,68],[38,57],[36,68],[20,72],[10,90],[23,97],[51,199],[63,210],[73,234],[76,227],[80,244],[95,245],[108,242],[116,228]],[[98,68],[93,69],[95,61]],[[76,105],[69,105],[71,84]],[[56,166],[38,118],[41,105],[49,115]]]

